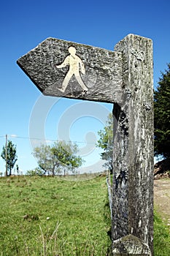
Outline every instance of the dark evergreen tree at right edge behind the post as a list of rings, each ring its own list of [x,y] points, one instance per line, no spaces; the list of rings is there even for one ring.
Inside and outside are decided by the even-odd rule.
[[[170,64],[161,73],[154,91],[154,142],[155,156],[170,157]]]

